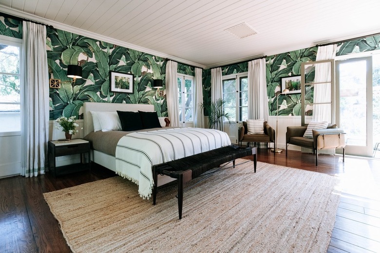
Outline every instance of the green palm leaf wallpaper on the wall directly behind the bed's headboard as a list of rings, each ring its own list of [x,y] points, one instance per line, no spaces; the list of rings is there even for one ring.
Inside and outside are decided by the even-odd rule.
[[[168,116],[166,99],[152,89],[153,79],[165,80],[164,58],[51,28],[47,28],[47,46],[50,77],[62,82],[59,89],[50,89],[51,120],[62,115],[82,118],[85,101],[152,104],[159,117]],[[72,85],[67,65],[78,63],[83,78]],[[133,73],[133,93],[111,92],[110,71]]]

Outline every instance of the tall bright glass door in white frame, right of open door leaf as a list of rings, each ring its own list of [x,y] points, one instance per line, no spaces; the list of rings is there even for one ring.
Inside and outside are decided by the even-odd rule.
[[[346,132],[346,153],[372,156],[372,56],[336,61],[337,124]]]

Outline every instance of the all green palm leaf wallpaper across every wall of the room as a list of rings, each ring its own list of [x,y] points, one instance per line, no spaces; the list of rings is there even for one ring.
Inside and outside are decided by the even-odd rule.
[[[0,16],[0,35],[22,38],[22,22]],[[50,119],[60,116],[80,118],[83,102],[152,104],[159,117],[168,116],[165,97],[158,96],[152,88],[153,79],[163,79],[165,90],[166,59],[128,49],[100,40],[76,35],[66,31],[47,28],[47,55],[50,78],[61,79],[59,89],[50,89]],[[380,36],[353,39],[338,44],[337,55],[354,54],[380,49]],[[300,75],[301,63],[315,61],[317,47],[275,54],[266,57],[266,85],[269,115],[276,115],[279,108],[275,92],[281,90],[281,78]],[[83,78],[74,86],[66,76],[67,65],[80,64]],[[116,93],[109,89],[109,72],[133,73],[135,76],[133,93]],[[228,75],[248,71],[248,63],[232,64],[222,68]],[[178,64],[178,72],[194,76],[194,67]],[[314,79],[314,73],[306,77]],[[211,72],[203,70],[203,103],[210,104]],[[306,100],[312,99],[313,90],[306,90]],[[279,115],[300,115],[301,94],[279,97],[282,109]],[[311,102],[311,101],[310,101]]]

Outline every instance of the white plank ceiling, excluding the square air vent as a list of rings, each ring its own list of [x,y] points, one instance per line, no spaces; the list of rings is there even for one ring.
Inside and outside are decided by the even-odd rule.
[[[207,68],[380,32],[379,0],[0,0],[0,11]],[[225,31],[243,22],[257,34]]]

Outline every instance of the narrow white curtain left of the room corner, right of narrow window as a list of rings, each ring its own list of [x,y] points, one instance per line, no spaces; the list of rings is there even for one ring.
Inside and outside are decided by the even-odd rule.
[[[202,89],[202,69],[195,68],[195,98],[194,98],[194,127],[205,127],[205,119],[203,108],[201,104],[203,103],[203,89]]]

